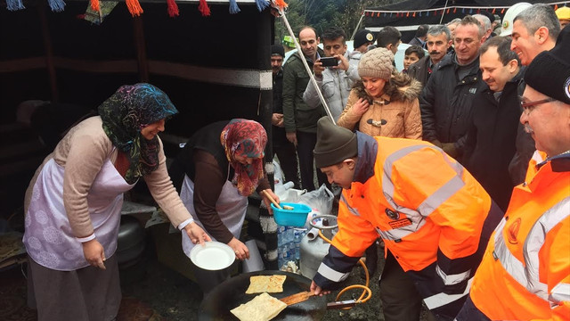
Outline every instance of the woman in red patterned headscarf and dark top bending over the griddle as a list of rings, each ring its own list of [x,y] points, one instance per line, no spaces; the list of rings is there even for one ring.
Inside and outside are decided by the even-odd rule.
[[[266,142],[265,129],[254,120],[219,121],[191,136],[169,168],[192,217],[212,239],[232,247],[235,256],[241,260],[249,258],[248,248],[240,241],[248,195],[257,191],[268,209],[271,209],[270,201],[262,191],[270,193],[279,202],[263,169]],[[193,246],[183,237],[183,250],[187,256]],[[222,283],[232,270],[232,267],[222,271],[192,268],[204,293]]]

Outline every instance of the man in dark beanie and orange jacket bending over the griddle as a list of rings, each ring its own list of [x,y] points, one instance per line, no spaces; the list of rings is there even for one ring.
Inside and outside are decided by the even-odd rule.
[[[503,214],[483,187],[433,144],[353,133],[326,117],[314,160],[343,193],[311,291],[329,292],[380,236],[436,319],[452,320]]]

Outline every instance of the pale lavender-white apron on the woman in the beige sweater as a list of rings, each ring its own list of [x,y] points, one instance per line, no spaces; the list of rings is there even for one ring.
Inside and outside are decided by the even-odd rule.
[[[45,163],[34,185],[22,241],[28,255],[37,264],[45,268],[71,271],[85,268],[89,263],[85,260],[83,246],[71,231],[63,206],[64,171],[53,159]],[[105,258],[110,258],[117,250],[123,193],[133,186],[134,184],[126,183],[108,159],[103,163],[87,195],[94,234],[102,244]]]

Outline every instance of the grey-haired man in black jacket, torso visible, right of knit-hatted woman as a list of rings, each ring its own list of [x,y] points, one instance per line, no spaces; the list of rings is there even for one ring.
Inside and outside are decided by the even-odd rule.
[[[455,29],[455,51],[436,65],[419,96],[423,139],[462,161],[469,116],[476,93],[485,89],[479,70],[479,48],[485,30],[472,16]]]

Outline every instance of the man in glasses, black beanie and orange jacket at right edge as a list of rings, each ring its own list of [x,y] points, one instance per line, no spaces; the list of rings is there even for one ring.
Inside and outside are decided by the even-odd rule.
[[[457,320],[570,319],[570,27],[525,72],[537,151],[491,236]]]

